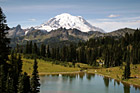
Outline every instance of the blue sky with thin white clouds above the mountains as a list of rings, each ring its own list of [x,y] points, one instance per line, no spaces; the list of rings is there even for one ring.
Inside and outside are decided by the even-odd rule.
[[[9,27],[41,25],[61,13],[82,16],[111,32],[140,28],[140,0],[0,0]]]

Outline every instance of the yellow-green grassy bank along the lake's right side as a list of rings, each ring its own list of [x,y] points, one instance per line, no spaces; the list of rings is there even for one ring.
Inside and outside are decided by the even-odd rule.
[[[112,68],[99,68],[90,69],[89,73],[97,73],[106,77],[111,77],[113,79],[122,81],[123,83],[128,83],[130,85],[136,85],[140,87],[140,64],[131,65],[131,77],[127,80],[122,80],[124,67],[112,67]]]

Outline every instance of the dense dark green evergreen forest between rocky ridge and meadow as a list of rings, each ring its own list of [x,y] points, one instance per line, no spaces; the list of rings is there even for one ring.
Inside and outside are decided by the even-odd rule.
[[[126,33],[124,37],[98,37],[86,42],[64,44],[61,47],[50,47],[42,43],[38,45],[27,41],[26,45],[18,45],[14,49],[17,53],[24,54],[25,58],[39,58],[53,61],[55,64],[72,62],[85,63],[98,67],[99,62],[104,62],[103,67],[122,66],[125,63],[124,79],[130,76],[130,64],[140,63],[140,30],[134,34]]]

